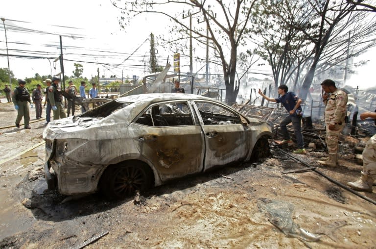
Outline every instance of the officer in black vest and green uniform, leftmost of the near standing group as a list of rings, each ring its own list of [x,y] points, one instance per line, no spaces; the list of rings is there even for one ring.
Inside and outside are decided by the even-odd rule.
[[[26,82],[23,79],[18,80],[19,87],[14,89],[12,100],[14,103],[14,108],[18,111],[16,118],[16,127],[20,128],[20,121],[24,117],[24,127],[25,129],[31,129],[29,125],[30,115],[29,115],[29,105],[27,102],[31,103],[30,93],[24,87]]]

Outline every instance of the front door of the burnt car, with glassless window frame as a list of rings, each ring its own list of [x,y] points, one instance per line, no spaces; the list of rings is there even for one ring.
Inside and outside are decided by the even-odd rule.
[[[231,108],[211,101],[194,101],[205,136],[205,171],[244,160],[250,146],[249,125]]]

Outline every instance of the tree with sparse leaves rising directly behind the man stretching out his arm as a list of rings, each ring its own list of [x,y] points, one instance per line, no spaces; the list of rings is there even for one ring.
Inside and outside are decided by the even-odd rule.
[[[302,4],[302,1],[265,0],[254,8],[251,30],[257,38],[253,42],[259,46],[258,55],[271,67],[275,87],[289,81],[296,84],[301,66],[311,53],[305,49],[308,41],[293,26],[301,15]]]

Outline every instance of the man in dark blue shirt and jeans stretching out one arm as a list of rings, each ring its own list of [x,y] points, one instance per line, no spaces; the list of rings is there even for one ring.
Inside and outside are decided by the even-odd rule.
[[[278,99],[270,99],[266,97],[260,89],[258,89],[258,94],[261,95],[262,98],[264,98],[265,100],[282,103],[284,108],[286,108],[286,110],[288,111],[288,115],[281,122],[281,131],[283,134],[282,144],[292,143],[290,134],[288,134],[286,127],[286,125],[292,122],[298,146],[298,149],[294,150],[293,153],[305,154],[306,151],[304,149],[304,140],[301,131],[303,111],[302,106],[300,106],[300,104],[302,103],[302,100],[293,92],[288,92],[288,87],[286,85],[280,85],[278,87],[278,94],[281,96]]]

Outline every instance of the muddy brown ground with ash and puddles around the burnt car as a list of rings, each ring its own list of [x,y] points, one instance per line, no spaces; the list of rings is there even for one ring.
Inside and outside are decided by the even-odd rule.
[[[374,204],[312,171],[282,174],[305,166],[276,149],[261,162],[190,176],[144,196],[69,200],[47,190],[38,146],[45,120],[36,121],[34,111],[32,129],[0,129],[0,248],[81,248],[102,233],[87,248],[376,248]],[[14,125],[16,114],[1,103],[0,126]],[[334,169],[316,163],[323,152],[297,157],[346,184],[361,166],[342,146]]]

